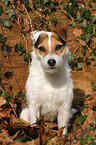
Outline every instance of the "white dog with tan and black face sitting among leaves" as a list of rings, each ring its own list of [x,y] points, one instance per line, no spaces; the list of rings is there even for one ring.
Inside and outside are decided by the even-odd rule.
[[[41,115],[51,122],[57,118],[58,128],[65,127],[65,135],[73,100],[73,82],[68,64],[67,32],[63,32],[63,36],[54,31],[31,32],[33,52],[26,82],[28,107],[22,110],[20,118],[31,125]]]

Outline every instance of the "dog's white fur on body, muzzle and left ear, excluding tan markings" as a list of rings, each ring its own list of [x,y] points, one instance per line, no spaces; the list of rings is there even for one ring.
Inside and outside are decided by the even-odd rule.
[[[50,35],[51,32],[33,31],[31,33],[33,42],[35,43],[39,35],[44,33]],[[50,58],[56,60],[56,68],[53,70],[47,64]],[[61,56],[49,52],[44,58],[37,56],[34,50],[26,83],[26,96],[28,108],[21,112],[20,118],[33,124],[36,122],[36,117],[40,115],[44,115],[50,121],[54,121],[57,117],[58,127],[65,126],[63,134],[67,133],[73,99],[68,47],[66,47],[65,54]]]

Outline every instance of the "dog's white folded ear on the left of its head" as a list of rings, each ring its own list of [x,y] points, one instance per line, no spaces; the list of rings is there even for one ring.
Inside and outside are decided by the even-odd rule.
[[[35,30],[35,31],[32,31],[31,32],[31,39],[32,39],[32,41],[33,41],[33,44],[35,44],[35,42],[37,41],[37,39],[38,39],[38,37],[41,35],[41,34],[43,34],[43,33],[45,33],[45,31],[37,31],[37,30]]]

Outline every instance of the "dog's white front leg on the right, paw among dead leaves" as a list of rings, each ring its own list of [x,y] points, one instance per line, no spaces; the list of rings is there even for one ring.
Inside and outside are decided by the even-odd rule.
[[[70,116],[70,109],[65,107],[60,107],[58,110],[58,128],[65,127],[63,130],[63,135],[67,133],[67,125]]]

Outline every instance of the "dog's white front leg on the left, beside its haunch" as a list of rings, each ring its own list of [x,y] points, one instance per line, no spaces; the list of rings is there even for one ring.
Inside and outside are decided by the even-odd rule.
[[[30,104],[29,105],[29,121],[30,125],[34,126],[34,123],[36,123],[37,117],[39,118],[39,108],[36,106]]]

